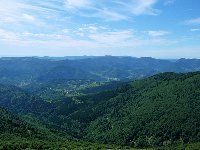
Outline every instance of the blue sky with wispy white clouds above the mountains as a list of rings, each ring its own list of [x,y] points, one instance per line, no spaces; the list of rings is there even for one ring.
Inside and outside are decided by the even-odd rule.
[[[0,0],[0,56],[200,58],[200,0]]]

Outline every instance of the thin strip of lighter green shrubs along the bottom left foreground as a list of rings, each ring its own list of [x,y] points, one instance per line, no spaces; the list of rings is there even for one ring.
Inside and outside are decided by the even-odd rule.
[[[0,150],[105,150],[105,149],[125,149],[115,145],[103,145],[83,141],[48,141],[48,140],[30,140],[20,137],[10,136],[7,139],[0,140]],[[127,147],[128,148],[128,147]]]

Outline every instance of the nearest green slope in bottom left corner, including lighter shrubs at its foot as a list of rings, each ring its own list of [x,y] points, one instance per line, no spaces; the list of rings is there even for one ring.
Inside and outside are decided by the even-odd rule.
[[[0,150],[21,149],[113,149],[122,148],[62,138],[46,127],[26,121],[0,107]],[[125,147],[124,147],[125,148]]]

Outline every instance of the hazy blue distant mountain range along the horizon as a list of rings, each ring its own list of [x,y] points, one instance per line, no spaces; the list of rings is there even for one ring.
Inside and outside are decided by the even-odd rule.
[[[0,58],[0,83],[26,86],[54,80],[132,80],[160,72],[200,70],[199,59],[176,61],[151,57]]]

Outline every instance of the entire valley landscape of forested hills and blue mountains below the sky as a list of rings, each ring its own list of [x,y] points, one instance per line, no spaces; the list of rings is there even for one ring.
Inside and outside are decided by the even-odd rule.
[[[192,59],[1,58],[0,149],[198,149],[199,67]]]

